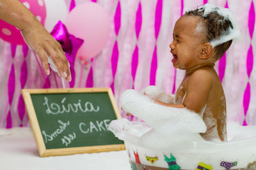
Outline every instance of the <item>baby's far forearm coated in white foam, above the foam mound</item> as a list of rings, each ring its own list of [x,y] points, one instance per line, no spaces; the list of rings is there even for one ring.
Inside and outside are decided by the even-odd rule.
[[[163,90],[152,85],[143,89],[142,94],[145,94],[151,99],[154,99],[155,101],[159,101],[159,103],[163,103],[163,104],[173,104],[175,100],[175,95],[166,94],[163,92]]]

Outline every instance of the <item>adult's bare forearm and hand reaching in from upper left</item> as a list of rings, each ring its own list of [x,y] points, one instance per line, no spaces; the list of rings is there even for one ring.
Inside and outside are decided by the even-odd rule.
[[[68,61],[60,43],[49,34],[24,4],[18,0],[0,0],[0,18],[20,29],[29,48],[40,58],[47,75],[50,74],[48,64],[50,57],[60,75],[71,81]]]

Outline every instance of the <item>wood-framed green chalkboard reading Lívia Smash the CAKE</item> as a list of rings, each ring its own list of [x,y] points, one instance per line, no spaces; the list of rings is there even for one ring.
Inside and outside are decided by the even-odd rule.
[[[108,129],[120,117],[109,88],[22,90],[40,157],[124,150]]]

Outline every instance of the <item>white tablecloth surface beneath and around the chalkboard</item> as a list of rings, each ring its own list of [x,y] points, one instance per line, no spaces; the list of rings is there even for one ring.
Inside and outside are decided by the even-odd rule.
[[[131,167],[125,150],[58,157],[39,157],[31,128],[18,127],[0,129],[0,169],[131,170]]]

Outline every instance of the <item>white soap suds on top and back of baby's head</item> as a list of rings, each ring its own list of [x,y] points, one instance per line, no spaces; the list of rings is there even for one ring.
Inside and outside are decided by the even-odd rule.
[[[203,18],[209,17],[209,15],[211,15],[212,13],[216,13],[221,17],[223,17],[223,18],[214,18],[214,19],[218,19],[218,24],[220,24],[220,27],[222,27],[225,22],[231,23],[229,24],[228,29],[225,28],[222,31],[220,31],[220,35],[217,38],[209,40],[209,43],[211,43],[212,48],[214,48],[214,46],[218,46],[218,45],[221,45],[222,43],[230,41],[231,39],[235,40],[240,37],[240,31],[236,24],[236,20],[228,8],[221,8],[221,7],[215,6],[214,4],[205,4],[204,6],[198,7],[198,12],[204,12],[204,14],[201,16]],[[186,14],[188,13],[189,11],[186,11]],[[212,21],[209,21],[209,22],[212,22]],[[204,31],[204,27],[206,25],[202,24],[202,22],[200,23],[196,27],[196,31]],[[216,25],[214,26],[216,27]]]

